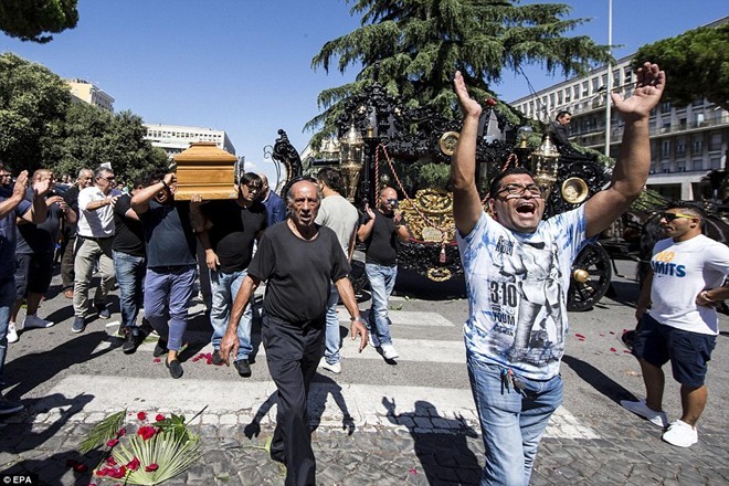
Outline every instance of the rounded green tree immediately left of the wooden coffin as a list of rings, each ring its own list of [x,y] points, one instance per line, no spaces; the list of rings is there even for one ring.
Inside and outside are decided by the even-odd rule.
[[[73,176],[108,162],[124,182],[161,170],[167,157],[144,139],[146,131],[141,118],[130,112],[112,115],[76,103],[66,116],[63,156],[55,170]]]

